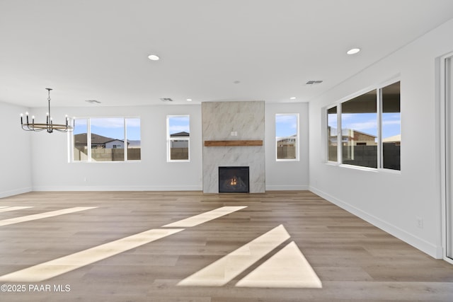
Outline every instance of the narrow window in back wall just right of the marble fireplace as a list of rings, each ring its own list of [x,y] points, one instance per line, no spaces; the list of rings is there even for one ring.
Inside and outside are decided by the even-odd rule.
[[[299,114],[275,115],[277,161],[299,161]]]

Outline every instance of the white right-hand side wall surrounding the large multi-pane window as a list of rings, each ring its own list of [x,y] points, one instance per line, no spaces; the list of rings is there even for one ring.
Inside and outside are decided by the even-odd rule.
[[[442,257],[435,59],[453,50],[452,33],[449,21],[309,105],[311,190],[433,257]],[[401,80],[401,173],[326,164],[323,107],[396,75]],[[423,228],[416,226],[417,217]]]

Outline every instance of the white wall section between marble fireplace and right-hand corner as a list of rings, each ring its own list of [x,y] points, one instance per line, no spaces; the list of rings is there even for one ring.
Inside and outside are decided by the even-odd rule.
[[[265,106],[266,190],[309,188],[309,104],[268,103]],[[275,115],[299,113],[299,161],[275,161]]]

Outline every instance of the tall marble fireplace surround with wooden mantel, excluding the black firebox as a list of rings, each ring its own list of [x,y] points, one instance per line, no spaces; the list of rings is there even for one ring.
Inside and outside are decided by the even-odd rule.
[[[248,166],[251,193],[265,192],[264,102],[202,103],[203,192],[219,192],[219,166]]]

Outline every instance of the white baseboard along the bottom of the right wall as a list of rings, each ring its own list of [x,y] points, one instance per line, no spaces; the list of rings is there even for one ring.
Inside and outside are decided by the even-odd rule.
[[[404,242],[412,245],[414,248],[417,248],[418,250],[421,250],[422,252],[430,255],[431,257],[435,259],[442,259],[442,247],[438,247],[437,245],[429,243],[428,241],[423,240],[422,238],[418,238],[417,236],[414,236],[413,234],[408,233],[407,231],[404,231],[403,229],[398,228],[397,226],[394,226],[387,221],[383,221],[382,219],[379,219],[372,214],[362,211],[361,209],[357,209],[351,204],[348,204],[348,202],[344,202],[343,200],[333,197],[331,194],[318,190],[316,189],[316,187],[309,186],[309,191],[319,195],[320,197],[323,197],[323,199],[326,199],[328,202],[331,202],[336,206],[345,209],[346,211],[354,214],[360,219],[371,223],[373,226],[382,229],[382,231],[385,231],[386,233],[389,233],[392,236],[403,240]]]

